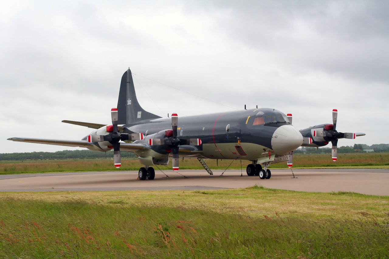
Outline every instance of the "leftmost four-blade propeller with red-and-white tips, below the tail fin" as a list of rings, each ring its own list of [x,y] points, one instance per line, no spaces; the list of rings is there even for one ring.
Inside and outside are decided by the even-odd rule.
[[[88,141],[89,142],[103,142],[108,141],[112,148],[114,149],[114,165],[116,168],[119,168],[121,166],[121,158],[120,158],[120,140],[140,140],[143,139],[142,133],[133,133],[133,134],[127,134],[127,133],[120,133],[117,127],[117,118],[118,118],[118,112],[117,108],[111,109],[111,119],[112,119],[112,125],[106,126],[106,131],[109,133],[107,135],[89,135]]]

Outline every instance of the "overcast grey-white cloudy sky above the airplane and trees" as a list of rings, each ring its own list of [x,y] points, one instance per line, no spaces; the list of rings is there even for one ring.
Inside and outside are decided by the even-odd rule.
[[[366,133],[339,146],[389,143],[387,0],[0,3],[0,153],[74,149],[6,139],[110,124],[128,67],[163,117],[258,105],[303,129],[336,108],[338,131]]]

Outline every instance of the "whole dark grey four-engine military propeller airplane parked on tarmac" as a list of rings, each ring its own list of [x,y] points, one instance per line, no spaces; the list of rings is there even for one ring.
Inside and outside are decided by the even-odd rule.
[[[179,157],[197,158],[205,170],[212,171],[207,159],[248,160],[246,173],[270,179],[267,168],[272,163],[287,161],[292,166],[292,154],[303,146],[321,147],[332,143],[336,160],[339,138],[355,138],[364,133],[336,131],[337,111],[333,124],[298,131],[292,125],[292,115],[273,108],[253,108],[230,112],[182,116],[172,114],[162,118],[145,111],[138,103],[131,70],[124,72],[117,107],[111,110],[112,125],[79,121],[62,121],[94,128],[82,140],[40,138],[8,138],[18,142],[85,147],[93,151],[114,150],[114,165],[121,166],[120,151],[134,152],[144,165],[138,171],[140,180],[153,180],[153,165],[168,165],[172,157],[174,171],[179,170]],[[123,142],[121,142],[123,141]]]

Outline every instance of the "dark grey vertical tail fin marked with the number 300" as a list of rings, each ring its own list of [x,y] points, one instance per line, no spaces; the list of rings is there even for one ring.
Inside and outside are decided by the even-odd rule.
[[[117,111],[118,124],[133,124],[138,121],[161,118],[140,107],[130,68],[124,72],[121,79]]]

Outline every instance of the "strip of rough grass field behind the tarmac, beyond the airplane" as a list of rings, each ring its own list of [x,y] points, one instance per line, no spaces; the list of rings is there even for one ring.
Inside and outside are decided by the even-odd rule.
[[[208,160],[207,165],[211,169],[242,169],[245,170],[249,161],[240,160]],[[137,159],[122,159],[119,170],[138,170],[142,165]],[[171,163],[169,164],[171,166]],[[330,154],[319,155],[294,155],[293,168],[333,168],[335,166],[353,167],[363,166],[368,168],[389,168],[389,153],[355,153],[338,154],[338,161],[333,162]],[[159,166],[166,170],[165,166]],[[180,160],[181,169],[202,169],[195,158]],[[286,162],[277,163],[270,168],[287,168]],[[110,159],[93,160],[44,160],[44,161],[3,161],[0,163],[0,174],[16,173],[47,173],[47,172],[89,172],[89,171],[113,171],[117,170]]]

